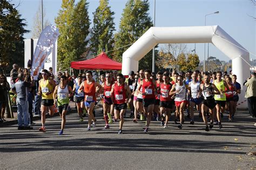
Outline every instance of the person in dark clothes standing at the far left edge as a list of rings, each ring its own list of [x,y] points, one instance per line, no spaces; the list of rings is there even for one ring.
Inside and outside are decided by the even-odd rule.
[[[2,94],[1,96],[3,96],[3,100],[2,100],[2,111],[1,111],[1,107],[0,107],[0,121],[4,119],[4,113],[5,113],[5,108],[8,104],[8,92],[10,91],[10,85],[8,83],[8,81],[6,81],[6,78],[3,74],[0,74],[0,83],[2,85],[2,92],[0,94]]]

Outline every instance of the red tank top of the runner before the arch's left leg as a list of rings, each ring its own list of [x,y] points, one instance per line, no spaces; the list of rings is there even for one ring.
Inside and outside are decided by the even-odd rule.
[[[117,83],[114,84],[114,104],[123,104],[126,99],[126,90],[124,89],[124,84],[118,86]]]

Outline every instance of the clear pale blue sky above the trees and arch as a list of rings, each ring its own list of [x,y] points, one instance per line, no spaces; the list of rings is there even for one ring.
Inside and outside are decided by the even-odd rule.
[[[31,30],[33,17],[36,15],[38,5],[41,0],[11,0],[12,3],[21,4],[18,10],[22,18],[26,19],[28,27]],[[78,1],[76,1],[78,2]],[[95,12],[99,1],[87,0],[89,2],[89,16],[93,20],[92,12]],[[114,23],[118,30],[120,18],[125,8],[126,0],[110,0],[111,10],[115,12]],[[149,0],[149,14],[153,19],[153,2]],[[45,19],[51,24],[55,24],[54,19],[58,15],[62,1],[61,0],[43,0],[45,8]],[[251,0],[156,0],[156,26],[203,26],[205,24],[205,15],[219,11],[218,14],[206,17],[206,25],[219,25],[239,44],[248,51],[256,54],[256,5]],[[92,24],[91,24],[92,26]],[[28,33],[25,38],[31,38]],[[194,44],[187,44],[187,50],[193,50]],[[204,44],[196,44],[196,51],[199,59],[204,58]],[[207,51],[207,50],[206,50]],[[256,56],[250,55],[250,58],[256,59]],[[207,53],[206,53],[207,56]],[[210,44],[209,56],[220,60],[228,61],[229,58]]]

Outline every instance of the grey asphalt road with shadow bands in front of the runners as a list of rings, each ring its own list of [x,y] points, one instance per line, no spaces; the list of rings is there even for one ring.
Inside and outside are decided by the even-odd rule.
[[[31,131],[0,127],[0,169],[256,169],[256,157],[246,155],[256,151],[256,119],[246,111],[232,123],[225,114],[221,130],[205,132],[196,113],[195,125],[187,119],[179,130],[172,117],[165,129],[153,121],[148,134],[145,121],[127,117],[123,134],[118,123],[103,130],[100,109],[96,115],[96,128],[86,131],[87,118],[79,123],[77,113],[68,114],[62,136],[59,117],[46,120],[46,133],[38,131],[40,121]]]

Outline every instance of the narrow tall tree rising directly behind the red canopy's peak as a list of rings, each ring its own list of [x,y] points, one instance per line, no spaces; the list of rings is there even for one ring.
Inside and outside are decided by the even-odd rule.
[[[93,12],[93,28],[91,37],[91,51],[98,55],[102,51],[113,50],[114,12],[111,11],[109,0],[100,0],[99,6]],[[108,53],[111,57],[112,52]]]

